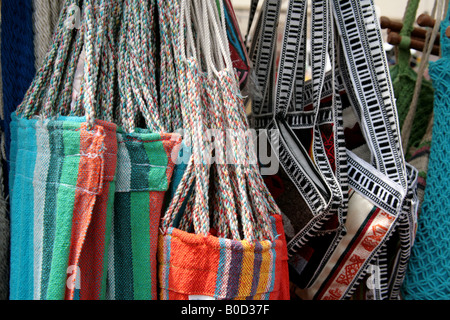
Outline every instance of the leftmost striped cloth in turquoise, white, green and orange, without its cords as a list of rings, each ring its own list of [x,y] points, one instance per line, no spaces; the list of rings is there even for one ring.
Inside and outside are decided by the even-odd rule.
[[[80,117],[13,115],[11,300],[76,299],[80,287],[75,280],[83,279],[83,269],[89,274],[94,268],[80,263],[84,245],[88,255],[105,247],[102,241],[89,245],[89,239],[105,234],[95,221],[106,216],[99,207],[107,207],[103,193],[109,194],[115,176],[116,126],[104,121],[91,130],[86,126]],[[87,279],[81,282],[85,289],[91,286]]]

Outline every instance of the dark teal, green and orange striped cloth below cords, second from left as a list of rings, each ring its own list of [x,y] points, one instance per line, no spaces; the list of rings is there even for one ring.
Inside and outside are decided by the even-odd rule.
[[[111,300],[157,299],[158,227],[181,138],[142,131],[117,134],[106,296]]]

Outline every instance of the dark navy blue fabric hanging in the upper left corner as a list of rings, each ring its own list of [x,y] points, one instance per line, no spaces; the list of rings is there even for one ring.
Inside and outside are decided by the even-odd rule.
[[[1,127],[5,133],[6,160],[10,154],[11,113],[30,86],[34,75],[34,44],[32,23],[32,0],[2,1],[2,80],[4,120]],[[7,183],[7,170],[5,181]],[[8,190],[8,188],[6,188]]]

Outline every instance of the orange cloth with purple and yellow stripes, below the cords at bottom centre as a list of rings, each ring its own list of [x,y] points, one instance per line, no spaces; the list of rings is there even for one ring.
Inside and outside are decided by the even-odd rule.
[[[281,240],[250,243],[169,228],[159,238],[160,298],[281,299],[282,247]]]

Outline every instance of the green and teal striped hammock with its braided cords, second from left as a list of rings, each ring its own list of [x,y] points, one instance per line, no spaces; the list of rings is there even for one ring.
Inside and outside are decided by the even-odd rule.
[[[116,188],[106,282],[106,297],[113,300],[157,299],[158,227],[176,160],[174,154],[181,143],[179,134],[169,133],[181,125],[179,119],[176,115],[163,118],[160,107],[164,105],[164,112],[170,114],[176,107],[172,99],[178,99],[165,82],[174,77],[167,69],[161,74],[164,85],[160,87],[161,104],[158,102],[156,10],[155,1],[126,1],[122,7],[117,52],[117,121],[122,127],[117,130]],[[170,103],[163,103],[163,96],[166,101],[171,99]],[[110,112],[110,116],[114,113]],[[140,119],[145,129],[139,127]]]

